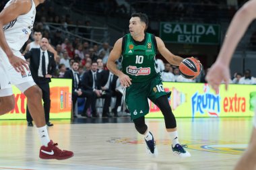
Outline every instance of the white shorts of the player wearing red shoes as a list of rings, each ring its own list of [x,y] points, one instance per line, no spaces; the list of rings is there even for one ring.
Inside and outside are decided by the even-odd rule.
[[[18,56],[25,60],[24,56],[19,51],[13,52],[15,56]],[[26,69],[25,69],[26,70]],[[11,85],[15,85],[24,93],[26,89],[35,85],[34,80],[30,74],[30,71],[26,70],[26,75],[22,75],[15,71],[9,60],[0,48],[0,97],[12,95]]]

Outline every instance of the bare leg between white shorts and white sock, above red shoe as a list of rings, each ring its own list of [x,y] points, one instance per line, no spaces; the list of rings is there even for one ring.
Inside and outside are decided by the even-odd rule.
[[[42,107],[42,91],[37,85],[33,85],[24,91],[28,99],[28,109],[37,128],[45,126],[44,108]]]

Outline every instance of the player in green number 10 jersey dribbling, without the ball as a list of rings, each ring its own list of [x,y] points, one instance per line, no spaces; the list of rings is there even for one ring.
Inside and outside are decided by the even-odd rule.
[[[170,93],[164,91],[160,73],[156,72],[155,66],[156,50],[172,65],[179,66],[183,58],[172,54],[160,38],[146,32],[147,28],[148,16],[144,13],[133,13],[129,22],[130,33],[117,40],[106,66],[119,77],[125,87],[127,108],[136,130],[144,135],[148,153],[152,156],[158,154],[154,137],[145,124],[144,116],[149,112],[149,98],[164,115],[174,155],[190,157],[189,152],[179,144],[176,120],[168,103]],[[123,70],[119,71],[115,61],[121,55]]]

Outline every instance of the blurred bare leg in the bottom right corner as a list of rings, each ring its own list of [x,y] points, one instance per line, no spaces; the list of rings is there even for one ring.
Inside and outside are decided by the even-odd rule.
[[[253,170],[256,167],[256,128],[253,128],[251,141],[244,155],[236,164],[234,170]]]

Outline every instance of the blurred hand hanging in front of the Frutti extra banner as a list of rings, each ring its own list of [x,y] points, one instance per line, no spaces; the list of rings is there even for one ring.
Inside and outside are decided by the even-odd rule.
[[[205,79],[216,93],[223,81],[225,83],[225,89],[227,90],[230,80],[230,70],[228,69],[228,66],[217,61],[212,65]]]

